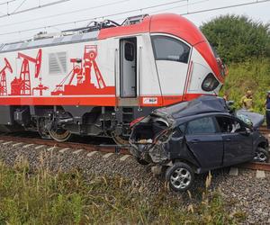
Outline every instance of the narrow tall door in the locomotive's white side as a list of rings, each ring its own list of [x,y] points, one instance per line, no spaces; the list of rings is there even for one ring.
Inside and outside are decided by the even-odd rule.
[[[137,98],[137,39],[120,40],[120,99]]]

